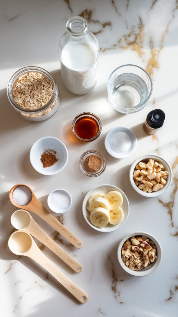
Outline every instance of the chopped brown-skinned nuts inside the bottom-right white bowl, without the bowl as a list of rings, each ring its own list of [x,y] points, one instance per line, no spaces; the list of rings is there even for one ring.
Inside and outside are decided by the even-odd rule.
[[[146,236],[133,236],[124,242],[121,257],[131,270],[140,271],[157,259],[156,246]]]

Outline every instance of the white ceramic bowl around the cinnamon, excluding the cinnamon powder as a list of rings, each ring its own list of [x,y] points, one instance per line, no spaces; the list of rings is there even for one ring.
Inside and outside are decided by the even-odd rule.
[[[44,150],[53,149],[59,160],[50,167],[43,167],[41,154]],[[44,137],[37,140],[30,150],[30,162],[34,169],[43,175],[53,175],[62,171],[68,161],[68,151],[64,143],[54,137]]]

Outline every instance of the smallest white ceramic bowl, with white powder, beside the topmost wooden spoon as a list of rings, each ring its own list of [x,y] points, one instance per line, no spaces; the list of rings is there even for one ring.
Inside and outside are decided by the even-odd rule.
[[[57,211],[57,208],[55,208],[55,204],[52,202],[52,196],[53,194],[57,194],[59,193],[60,195],[63,195],[64,200],[66,202],[66,209],[63,208],[63,211],[59,210]],[[55,195],[55,200],[57,200],[57,196]],[[57,203],[57,202],[56,202]],[[61,201],[61,199],[59,198],[58,200],[59,205],[63,204],[63,202]],[[55,189],[54,191],[51,191],[51,193],[48,196],[48,206],[49,208],[56,212],[57,214],[63,214],[64,212],[66,212],[67,210],[69,210],[69,208],[71,207],[72,204],[72,197],[70,196],[69,192],[66,191],[65,189]]]

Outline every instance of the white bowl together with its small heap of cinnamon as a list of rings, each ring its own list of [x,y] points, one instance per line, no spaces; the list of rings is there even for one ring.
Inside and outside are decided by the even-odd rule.
[[[30,150],[30,162],[33,168],[43,175],[53,175],[62,171],[68,161],[65,144],[54,137],[37,140]]]

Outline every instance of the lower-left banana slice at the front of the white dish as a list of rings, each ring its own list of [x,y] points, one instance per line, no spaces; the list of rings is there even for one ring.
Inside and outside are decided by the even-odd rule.
[[[101,207],[95,208],[90,215],[91,223],[100,228],[106,227],[109,220],[109,211]]]

